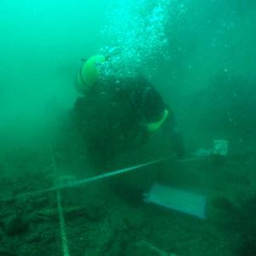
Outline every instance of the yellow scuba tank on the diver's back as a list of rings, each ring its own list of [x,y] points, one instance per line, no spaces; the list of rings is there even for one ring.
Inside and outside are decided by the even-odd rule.
[[[106,57],[104,55],[94,55],[85,61],[79,70],[76,82],[76,89],[80,93],[84,94],[100,79],[100,68],[105,61]]]

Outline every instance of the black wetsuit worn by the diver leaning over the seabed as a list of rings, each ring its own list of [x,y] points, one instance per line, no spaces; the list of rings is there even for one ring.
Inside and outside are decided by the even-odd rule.
[[[108,79],[78,98],[74,116],[90,159],[99,166],[108,166],[117,150],[146,143],[146,124],[159,121],[166,108],[160,94],[143,77]],[[165,123],[164,129],[172,136],[173,114]]]

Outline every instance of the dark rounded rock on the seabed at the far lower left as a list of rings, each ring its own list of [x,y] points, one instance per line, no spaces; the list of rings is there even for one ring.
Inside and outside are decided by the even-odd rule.
[[[8,234],[9,236],[15,236],[28,230],[28,222],[24,218],[12,215],[6,219],[4,223],[4,228],[6,234]]]

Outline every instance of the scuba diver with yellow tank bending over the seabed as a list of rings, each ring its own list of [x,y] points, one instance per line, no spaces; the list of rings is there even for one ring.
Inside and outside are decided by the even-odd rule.
[[[172,154],[184,154],[183,139],[171,108],[142,75],[119,78],[102,73],[109,56],[94,55],[79,70],[73,119],[84,139],[89,160],[111,169],[116,154],[144,145],[162,131]]]

